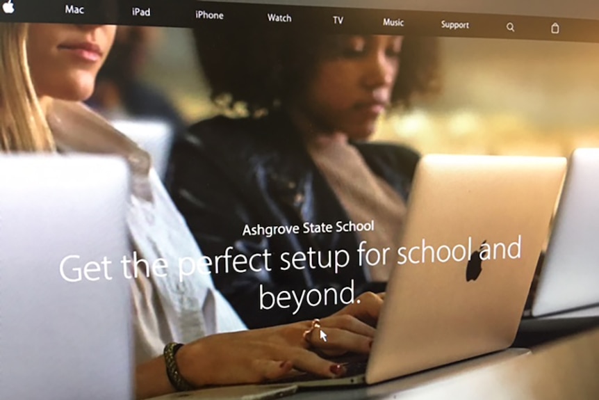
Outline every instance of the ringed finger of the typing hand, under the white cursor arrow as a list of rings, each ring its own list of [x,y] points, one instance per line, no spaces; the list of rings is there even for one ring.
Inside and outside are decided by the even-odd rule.
[[[325,336],[322,336],[321,332],[325,333]],[[308,339],[313,347],[323,351],[343,350],[346,353],[368,354],[372,346],[372,337],[358,335],[338,328],[327,328],[326,330],[315,329],[309,335]]]

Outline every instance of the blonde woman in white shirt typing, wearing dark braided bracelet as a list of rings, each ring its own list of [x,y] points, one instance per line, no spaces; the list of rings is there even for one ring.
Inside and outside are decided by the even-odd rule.
[[[115,31],[102,25],[0,24],[0,150],[121,154],[133,173],[128,223],[140,256],[149,262],[199,259],[147,154],[81,104],[92,94]],[[294,368],[342,376],[343,366],[311,349],[368,353],[382,302],[381,296],[365,294],[320,321],[245,330],[209,275],[184,282],[178,276],[144,276],[133,285],[138,399],[205,385],[258,383]],[[327,342],[316,340],[321,326]]]

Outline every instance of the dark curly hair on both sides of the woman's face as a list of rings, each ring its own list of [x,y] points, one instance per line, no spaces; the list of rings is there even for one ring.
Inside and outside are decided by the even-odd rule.
[[[195,47],[213,102],[231,111],[243,104],[250,115],[277,109],[305,85],[316,63],[347,35],[302,31],[218,30],[197,27]],[[315,45],[318,44],[318,45]],[[439,88],[436,38],[406,37],[393,88],[395,107]]]

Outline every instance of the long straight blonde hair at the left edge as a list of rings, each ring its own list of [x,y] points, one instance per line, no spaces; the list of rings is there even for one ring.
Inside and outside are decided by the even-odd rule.
[[[54,151],[27,62],[27,24],[0,24],[0,152]]]

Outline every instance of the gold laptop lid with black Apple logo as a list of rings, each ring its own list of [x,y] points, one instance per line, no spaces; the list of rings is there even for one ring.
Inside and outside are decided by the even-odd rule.
[[[368,383],[511,345],[565,169],[562,157],[421,159]]]

